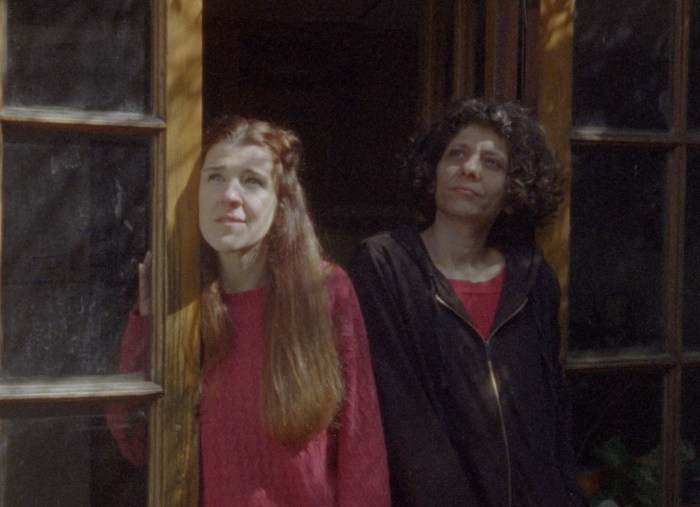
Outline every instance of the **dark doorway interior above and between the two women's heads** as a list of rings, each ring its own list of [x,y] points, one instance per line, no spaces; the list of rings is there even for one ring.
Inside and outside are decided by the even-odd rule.
[[[327,255],[405,220],[396,156],[417,120],[416,0],[205,0],[204,120],[298,132]]]

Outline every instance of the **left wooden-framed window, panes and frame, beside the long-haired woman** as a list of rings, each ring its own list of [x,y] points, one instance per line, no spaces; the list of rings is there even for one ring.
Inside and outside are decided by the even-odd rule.
[[[201,3],[2,8],[0,506],[194,505]],[[128,373],[146,250],[151,364]],[[110,435],[117,402],[148,423],[145,466]]]

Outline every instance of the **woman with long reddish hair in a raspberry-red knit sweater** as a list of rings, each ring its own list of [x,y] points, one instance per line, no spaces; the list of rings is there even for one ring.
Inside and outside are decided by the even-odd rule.
[[[301,163],[299,138],[268,122],[223,119],[205,134],[202,505],[389,505],[362,316],[345,272],[321,259]]]

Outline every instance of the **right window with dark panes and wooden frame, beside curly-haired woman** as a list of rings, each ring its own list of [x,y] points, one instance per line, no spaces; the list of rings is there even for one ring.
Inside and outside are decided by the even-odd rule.
[[[579,477],[592,505],[697,504],[700,2],[542,13],[539,110],[570,155],[546,242],[567,288]]]

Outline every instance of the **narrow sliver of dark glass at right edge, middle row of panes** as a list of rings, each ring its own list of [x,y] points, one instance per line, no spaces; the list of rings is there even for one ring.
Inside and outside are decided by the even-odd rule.
[[[700,346],[700,150],[690,150],[685,194],[683,341]]]

